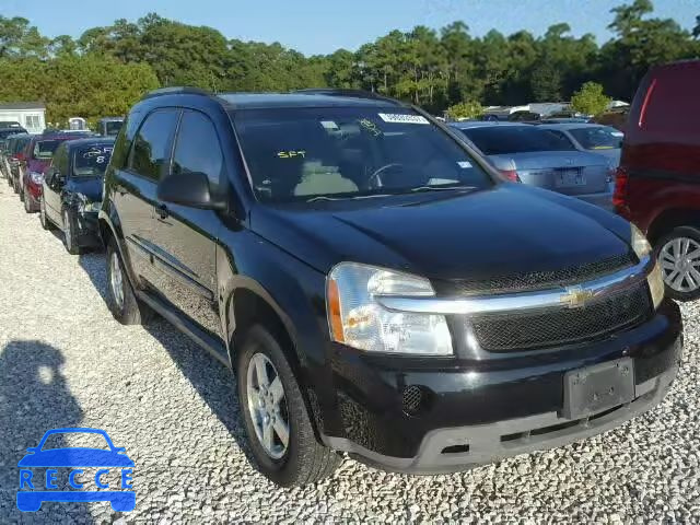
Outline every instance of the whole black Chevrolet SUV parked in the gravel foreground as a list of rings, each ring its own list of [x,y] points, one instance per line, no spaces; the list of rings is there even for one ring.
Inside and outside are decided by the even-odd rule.
[[[237,372],[259,469],[347,452],[441,472],[658,402],[679,310],[623,219],[504,183],[420,109],[354,92],[170,89],[129,114],[100,211],[108,304]]]

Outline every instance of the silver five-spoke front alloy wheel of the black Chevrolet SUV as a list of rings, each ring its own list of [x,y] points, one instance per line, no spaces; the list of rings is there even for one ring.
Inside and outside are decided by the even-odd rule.
[[[282,381],[265,354],[250,358],[246,385],[255,435],[268,456],[280,459],[289,447],[289,412]]]

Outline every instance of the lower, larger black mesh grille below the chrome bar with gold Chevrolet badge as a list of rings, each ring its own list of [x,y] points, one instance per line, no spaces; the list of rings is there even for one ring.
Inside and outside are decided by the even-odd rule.
[[[471,317],[485,350],[512,351],[591,341],[646,320],[653,312],[645,281],[582,308],[510,312]]]

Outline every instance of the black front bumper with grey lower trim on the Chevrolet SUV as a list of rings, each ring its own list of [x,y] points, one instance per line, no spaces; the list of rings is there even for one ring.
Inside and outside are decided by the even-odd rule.
[[[551,351],[499,355],[489,362],[424,370],[336,352],[337,411],[324,425],[326,445],[387,470],[436,474],[561,446],[618,427],[660,402],[677,374],[682,351],[680,314],[666,301],[648,323],[614,337]],[[337,349],[339,350],[339,349]],[[345,349],[343,349],[345,350]],[[634,366],[631,402],[567,419],[564,375],[629,357]],[[366,361],[366,362],[365,362]],[[408,415],[404,394],[424,392],[424,408]]]

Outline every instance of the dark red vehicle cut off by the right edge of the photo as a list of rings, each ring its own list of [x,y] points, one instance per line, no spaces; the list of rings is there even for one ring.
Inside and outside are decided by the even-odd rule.
[[[646,233],[668,295],[700,298],[700,60],[658,66],[632,103],[617,175],[618,213]]]

